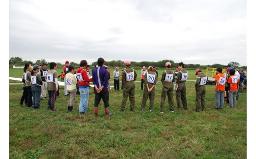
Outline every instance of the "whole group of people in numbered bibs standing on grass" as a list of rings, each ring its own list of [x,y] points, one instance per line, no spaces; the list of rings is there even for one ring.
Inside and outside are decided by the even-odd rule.
[[[88,99],[89,99],[89,87],[90,82],[93,82],[95,87],[95,103],[94,103],[94,114],[98,114],[98,104],[102,99],[104,102],[105,113],[109,116],[112,113],[109,110],[109,80],[110,72],[107,70],[105,61],[103,58],[97,60],[98,66],[95,66],[92,70],[92,76],[90,76],[89,65],[86,60],[80,62],[80,66],[74,73],[74,66],[69,65],[69,62],[65,62],[63,68],[64,71],[64,95],[69,95],[67,104],[67,110],[73,111],[73,105],[75,96],[77,94],[76,89],[80,93],[79,103],[79,114],[86,114],[88,112]],[[34,107],[34,109],[40,109],[40,98],[47,98],[46,92],[48,91],[48,110],[56,111],[55,100],[56,92],[58,91],[58,72],[57,64],[50,63],[50,70],[46,69],[45,63],[41,65],[41,69],[38,65],[25,64],[23,82],[24,92],[21,99],[21,105],[23,100],[28,107]],[[121,103],[121,111],[126,110],[126,103],[129,97],[130,110],[135,110],[135,84],[137,73],[130,66],[130,61],[125,61],[126,68],[123,69],[122,74],[119,73],[119,67],[113,72],[114,76],[114,89],[119,90],[119,77],[122,76],[122,89],[123,99]],[[223,109],[224,105],[224,93],[226,91],[227,102],[229,107],[236,107],[236,99],[238,98],[237,92],[239,90],[240,76],[235,75],[235,69],[227,65],[226,66],[226,77],[222,74],[222,68],[217,68],[216,81],[216,109]],[[149,97],[150,106],[149,112],[154,109],[155,89],[158,82],[158,71],[155,66],[149,66],[146,70],[144,66],[141,70],[141,90],[143,90],[141,111],[145,110],[145,105]],[[200,109],[205,112],[205,85],[207,83],[207,76],[200,70],[196,69],[195,75],[197,79],[195,82],[196,91],[196,112]],[[242,75],[241,75],[242,76]],[[188,110],[187,97],[186,97],[186,81],[188,79],[188,71],[185,69],[185,65],[181,62],[176,67],[176,70],[171,70],[171,63],[165,64],[165,70],[161,75],[162,91],[161,91],[161,102],[160,102],[160,113],[164,111],[164,102],[166,95],[168,98],[168,105],[170,112],[174,112],[174,100],[173,91],[176,91],[176,100],[178,109]],[[78,86],[78,88],[77,88]],[[33,97],[32,97],[33,96]]]

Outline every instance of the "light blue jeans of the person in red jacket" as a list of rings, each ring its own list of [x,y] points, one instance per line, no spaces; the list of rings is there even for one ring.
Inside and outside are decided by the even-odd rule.
[[[87,112],[88,99],[89,99],[89,87],[79,88],[79,92],[80,92],[79,112]]]

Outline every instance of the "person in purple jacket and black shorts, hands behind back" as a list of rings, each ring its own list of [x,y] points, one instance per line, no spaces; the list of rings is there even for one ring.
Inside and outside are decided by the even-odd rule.
[[[113,115],[109,111],[109,95],[108,95],[108,83],[109,80],[108,72],[105,68],[103,68],[103,65],[105,63],[105,60],[103,58],[98,58],[98,67],[93,70],[93,84],[96,89],[95,93],[95,99],[94,99],[94,114],[97,117],[98,115],[98,104],[102,98],[104,102],[105,112],[108,116]]]

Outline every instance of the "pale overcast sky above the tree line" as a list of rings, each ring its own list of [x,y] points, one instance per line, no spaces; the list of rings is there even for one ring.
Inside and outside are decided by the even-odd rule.
[[[9,58],[246,62],[246,0],[9,0]]]

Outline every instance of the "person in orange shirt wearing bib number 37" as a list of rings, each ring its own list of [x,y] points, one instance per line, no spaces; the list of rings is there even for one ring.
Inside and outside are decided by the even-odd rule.
[[[227,81],[227,92],[228,92],[228,99],[229,99],[229,106],[230,108],[236,107],[236,95],[238,93],[238,83],[239,78],[235,75],[235,69],[229,70],[230,77]]]

